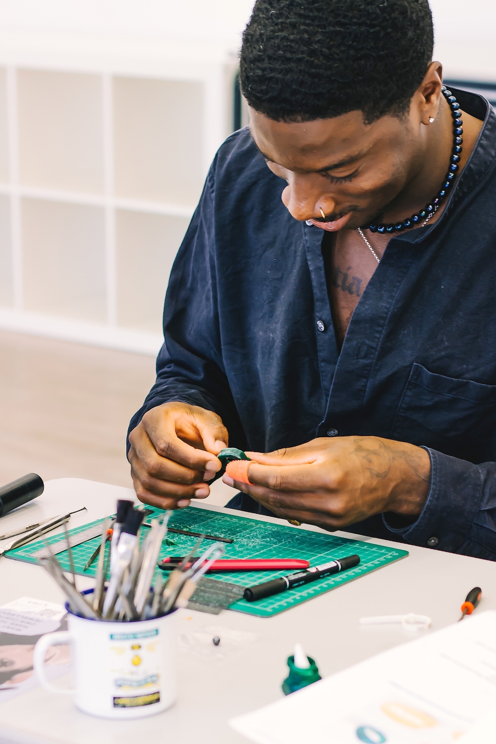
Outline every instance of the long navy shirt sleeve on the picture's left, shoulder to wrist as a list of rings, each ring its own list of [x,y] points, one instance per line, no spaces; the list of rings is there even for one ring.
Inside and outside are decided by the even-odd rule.
[[[158,353],[155,385],[132,417],[129,432],[146,411],[181,401],[215,411],[228,432],[239,419],[222,363],[216,286],[214,175],[204,185],[170,274],[164,304],[164,344]],[[230,432],[231,433],[231,432]],[[237,437],[239,440],[239,436]]]

